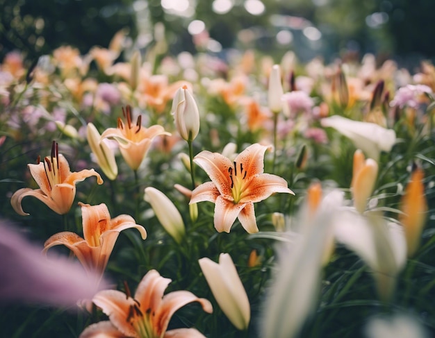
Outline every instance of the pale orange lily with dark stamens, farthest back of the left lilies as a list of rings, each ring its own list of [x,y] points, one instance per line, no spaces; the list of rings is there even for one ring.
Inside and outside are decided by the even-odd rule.
[[[101,134],[101,140],[112,138],[120,145],[120,151],[125,162],[131,169],[137,170],[145,158],[152,140],[158,135],[171,135],[165,132],[163,126],[142,127],[142,117],[139,115],[136,125],[131,123],[131,108],[129,105],[122,108],[122,114],[126,118],[126,123],[118,119],[117,128],[108,128]]]

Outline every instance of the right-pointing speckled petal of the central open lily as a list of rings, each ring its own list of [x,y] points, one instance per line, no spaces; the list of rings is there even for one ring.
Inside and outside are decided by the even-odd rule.
[[[287,187],[287,181],[284,178],[272,174],[259,174],[245,187],[242,193],[240,203],[248,201],[257,203],[268,198],[275,192],[285,192],[287,194],[295,194]]]

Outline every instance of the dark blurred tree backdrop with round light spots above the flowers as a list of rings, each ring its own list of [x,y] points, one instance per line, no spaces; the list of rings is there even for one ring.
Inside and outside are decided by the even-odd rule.
[[[435,55],[432,0],[0,0],[0,8],[0,61],[19,50],[31,62],[65,44],[85,54],[122,28],[127,48],[145,50],[164,34],[172,54],[235,47],[329,62],[370,52],[410,69]],[[157,23],[165,30],[156,33]]]

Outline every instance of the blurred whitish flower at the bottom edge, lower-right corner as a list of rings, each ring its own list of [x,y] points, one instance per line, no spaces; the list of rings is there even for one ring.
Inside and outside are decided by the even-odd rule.
[[[366,324],[367,338],[429,338],[418,319],[406,314],[374,317]]]

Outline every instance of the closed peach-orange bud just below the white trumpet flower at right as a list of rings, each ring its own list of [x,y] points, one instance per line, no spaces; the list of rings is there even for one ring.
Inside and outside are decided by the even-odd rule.
[[[354,207],[361,214],[366,210],[367,199],[375,187],[377,171],[377,162],[371,158],[366,160],[363,152],[357,149],[354,153],[354,169],[350,189],[354,198]]]

